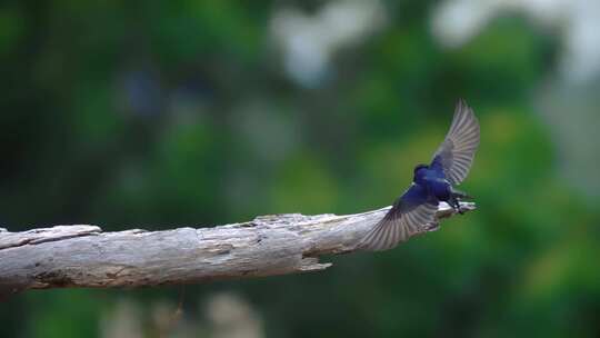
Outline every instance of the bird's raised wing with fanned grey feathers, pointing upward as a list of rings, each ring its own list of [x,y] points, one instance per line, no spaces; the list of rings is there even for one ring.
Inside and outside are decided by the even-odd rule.
[[[433,155],[431,167],[442,169],[452,186],[459,185],[471,169],[477,147],[479,122],[471,107],[461,99],[454,109],[450,130]]]

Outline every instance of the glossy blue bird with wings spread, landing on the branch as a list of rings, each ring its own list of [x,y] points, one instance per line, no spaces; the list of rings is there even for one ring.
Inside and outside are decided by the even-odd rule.
[[[469,173],[478,146],[479,122],[467,102],[459,100],[450,130],[431,163],[414,167],[412,185],[366,235],[360,247],[371,251],[391,249],[414,233],[438,227],[436,211],[440,201],[462,213],[459,201],[470,197],[453,187]]]

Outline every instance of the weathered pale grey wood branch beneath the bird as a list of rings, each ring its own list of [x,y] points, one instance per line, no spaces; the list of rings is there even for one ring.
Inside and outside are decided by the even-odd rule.
[[[261,216],[242,223],[164,231],[103,232],[96,226],[0,229],[0,295],[323,270],[331,264],[319,262],[319,256],[358,250],[360,239],[388,208],[346,216]],[[474,203],[462,202],[461,208],[473,210]],[[437,216],[453,213],[441,203]]]

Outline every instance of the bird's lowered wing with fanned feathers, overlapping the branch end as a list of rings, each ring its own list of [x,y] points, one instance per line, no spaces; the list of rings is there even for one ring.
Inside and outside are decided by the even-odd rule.
[[[427,190],[413,183],[364,236],[360,247],[369,251],[391,249],[433,226],[437,210],[438,202],[428,200]]]

